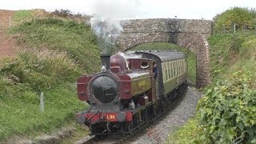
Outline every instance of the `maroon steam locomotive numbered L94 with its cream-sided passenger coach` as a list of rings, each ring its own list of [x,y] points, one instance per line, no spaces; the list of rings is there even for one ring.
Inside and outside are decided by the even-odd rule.
[[[101,72],[77,81],[79,100],[90,104],[76,114],[77,122],[92,135],[130,134],[186,89],[186,55],[176,50],[129,51],[102,55],[101,61]]]

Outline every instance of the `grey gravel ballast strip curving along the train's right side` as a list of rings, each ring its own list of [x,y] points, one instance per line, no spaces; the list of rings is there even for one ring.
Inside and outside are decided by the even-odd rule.
[[[161,121],[142,134],[141,137],[134,139],[133,144],[141,143],[164,143],[168,135],[177,130],[178,127],[184,125],[187,120],[194,116],[198,100],[202,98],[202,94],[192,87],[188,87],[186,94],[174,102],[174,106]]]

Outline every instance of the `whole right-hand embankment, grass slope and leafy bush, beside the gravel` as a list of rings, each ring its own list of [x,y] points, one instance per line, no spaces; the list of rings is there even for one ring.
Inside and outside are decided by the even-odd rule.
[[[256,110],[256,35],[253,31],[213,34],[208,42],[213,83],[194,118],[167,142],[256,142],[251,139],[256,136],[255,119],[251,119]]]

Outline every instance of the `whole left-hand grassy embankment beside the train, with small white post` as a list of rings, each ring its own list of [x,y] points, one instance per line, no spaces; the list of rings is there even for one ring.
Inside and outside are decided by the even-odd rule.
[[[30,18],[26,11],[22,14]],[[86,108],[77,98],[75,81],[99,67],[90,26],[63,18],[34,18],[10,33],[26,50],[0,65],[0,141],[15,135],[34,138],[73,122],[74,114]]]

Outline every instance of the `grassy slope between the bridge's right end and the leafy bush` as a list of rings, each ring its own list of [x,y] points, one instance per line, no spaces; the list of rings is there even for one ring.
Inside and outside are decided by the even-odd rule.
[[[213,82],[238,70],[254,71],[256,35],[251,31],[214,34],[210,43],[210,76]]]

